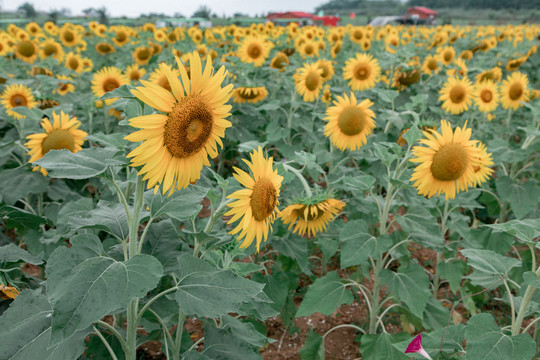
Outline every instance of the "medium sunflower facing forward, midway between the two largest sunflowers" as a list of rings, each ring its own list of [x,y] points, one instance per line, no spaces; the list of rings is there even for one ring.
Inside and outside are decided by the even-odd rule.
[[[373,102],[365,99],[358,103],[354,93],[337,96],[334,105],[326,109],[324,135],[341,151],[354,151],[365,145],[367,137],[375,129],[375,113],[370,109]]]

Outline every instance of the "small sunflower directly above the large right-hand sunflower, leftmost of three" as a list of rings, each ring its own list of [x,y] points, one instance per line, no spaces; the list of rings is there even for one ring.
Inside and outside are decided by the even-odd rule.
[[[439,92],[442,108],[450,114],[461,114],[469,109],[474,93],[474,86],[468,78],[451,77]]]

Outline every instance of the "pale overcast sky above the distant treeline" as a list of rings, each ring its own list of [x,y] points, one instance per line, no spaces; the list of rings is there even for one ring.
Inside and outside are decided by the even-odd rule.
[[[273,11],[313,12],[315,7],[327,0],[0,0],[2,10],[16,10],[29,2],[36,10],[50,11],[68,8],[72,15],[81,15],[83,9],[105,6],[109,15],[138,17],[140,14],[180,13],[191,16],[201,5],[206,5],[218,16],[232,16],[235,12],[260,15]]]

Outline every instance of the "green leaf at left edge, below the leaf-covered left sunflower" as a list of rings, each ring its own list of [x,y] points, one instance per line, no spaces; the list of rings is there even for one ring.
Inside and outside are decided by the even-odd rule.
[[[6,205],[14,205],[30,194],[41,194],[49,186],[49,179],[39,171],[28,171],[28,167],[2,169],[0,172],[0,195]]]

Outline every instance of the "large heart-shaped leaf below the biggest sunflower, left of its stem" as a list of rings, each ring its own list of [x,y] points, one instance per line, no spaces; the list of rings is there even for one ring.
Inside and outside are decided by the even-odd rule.
[[[56,249],[47,264],[47,288],[54,309],[52,345],[146,295],[163,272],[160,262],[150,255],[125,262],[104,256],[96,236],[74,236],[71,244],[71,248]]]

